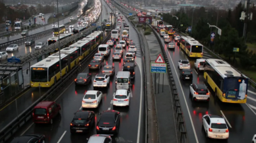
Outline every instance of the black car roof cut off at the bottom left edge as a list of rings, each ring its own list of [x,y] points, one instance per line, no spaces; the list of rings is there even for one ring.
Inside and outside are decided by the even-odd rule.
[[[23,136],[18,136],[14,138],[11,143],[36,143],[36,142],[45,142],[44,134],[27,134]]]

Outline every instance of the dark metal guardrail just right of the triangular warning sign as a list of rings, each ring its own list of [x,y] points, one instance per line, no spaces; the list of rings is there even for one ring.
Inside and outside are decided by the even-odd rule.
[[[154,33],[154,35],[156,36],[158,43],[161,47],[162,53],[164,54],[164,61],[167,64],[167,73],[168,73],[168,77],[169,77],[169,84],[171,87],[171,96],[172,96],[172,101],[173,101],[173,108],[174,108],[174,115],[176,118],[176,127],[177,127],[177,137],[179,138],[179,142],[180,143],[187,143],[189,142],[189,138],[187,136],[187,129],[186,129],[186,125],[185,125],[185,121],[184,121],[184,117],[183,117],[183,112],[181,109],[181,103],[179,101],[179,96],[177,94],[177,88],[176,88],[176,84],[172,75],[172,71],[171,71],[171,67],[170,67],[170,63],[168,61],[166,52],[164,50],[164,45],[162,45],[162,41],[160,40],[158,34],[156,33],[156,31],[149,26],[152,29],[152,32]]]

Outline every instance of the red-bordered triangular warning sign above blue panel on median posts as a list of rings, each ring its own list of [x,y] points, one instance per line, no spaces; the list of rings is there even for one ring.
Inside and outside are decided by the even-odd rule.
[[[162,92],[164,92],[164,73],[166,73],[166,63],[161,54],[158,55],[156,61],[154,63],[150,63],[150,72],[154,73],[154,94],[156,94],[156,73],[158,76],[158,94],[159,94],[159,86],[160,86],[160,73],[163,74],[163,82],[162,82]]]

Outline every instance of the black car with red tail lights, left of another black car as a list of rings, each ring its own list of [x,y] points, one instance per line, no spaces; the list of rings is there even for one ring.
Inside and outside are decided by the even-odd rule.
[[[70,132],[88,132],[94,127],[94,111],[77,111],[70,123]]]

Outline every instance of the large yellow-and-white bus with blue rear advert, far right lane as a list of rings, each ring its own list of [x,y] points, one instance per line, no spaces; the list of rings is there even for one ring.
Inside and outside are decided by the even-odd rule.
[[[205,60],[204,78],[215,97],[227,103],[246,103],[248,78],[222,59]]]

